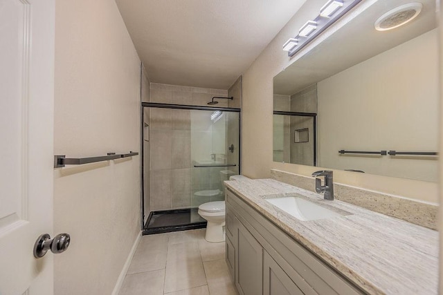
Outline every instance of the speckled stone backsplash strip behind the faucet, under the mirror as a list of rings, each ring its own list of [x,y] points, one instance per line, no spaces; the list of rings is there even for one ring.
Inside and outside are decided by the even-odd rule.
[[[271,178],[314,191],[315,178],[271,169]],[[437,230],[438,206],[350,187],[334,182],[334,198],[356,206]]]

